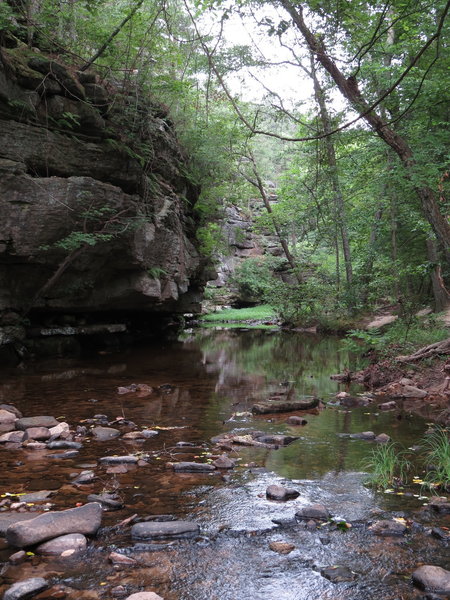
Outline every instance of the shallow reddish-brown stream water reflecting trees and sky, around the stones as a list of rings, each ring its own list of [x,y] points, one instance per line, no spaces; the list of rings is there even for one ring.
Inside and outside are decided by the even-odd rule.
[[[285,414],[248,413],[255,400],[291,385],[298,394],[333,399],[346,388],[330,375],[348,362],[335,338],[208,329],[187,333],[176,343],[3,371],[1,402],[14,404],[26,416],[54,415],[76,428],[104,414],[110,422],[125,417],[139,428],[156,426],[159,433],[141,442],[89,439],[78,456],[66,460],[51,459],[49,450],[0,448],[1,494],[53,490],[50,502],[61,510],[108,490],[117,492],[124,504],[105,512],[99,535],[81,555],[30,556],[11,565],[8,558],[15,550],[0,540],[5,565],[0,592],[20,579],[42,576],[65,590],[52,588],[48,597],[69,599],[121,597],[118,586],[123,586],[122,597],[146,590],[165,600],[422,598],[423,592],[411,584],[411,572],[421,564],[448,568],[448,545],[429,532],[433,526],[449,526],[448,516],[424,506],[419,486],[400,496],[366,487],[363,464],[373,443],[348,434],[385,432],[408,448],[424,434],[424,420],[381,412],[376,404],[349,409],[331,403],[304,414],[308,423],[303,427],[287,425]],[[117,393],[118,386],[131,383],[147,384],[153,392],[145,397]],[[233,450],[237,466],[226,473],[179,474],[166,465],[202,461],[212,436],[252,429],[299,439],[278,450]],[[179,442],[195,446],[180,447]],[[107,473],[97,462],[105,455],[133,453],[149,454],[148,464]],[[87,468],[99,479],[89,486],[73,485],[74,475]],[[293,487],[300,495],[288,502],[270,501],[265,495],[270,484]],[[310,503],[324,504],[352,528],[343,533],[329,526],[309,530],[293,524],[295,511]],[[193,520],[201,535],[169,545],[137,544],[129,526],[117,527],[133,514]],[[393,516],[414,521],[408,535],[383,538],[368,530],[370,522]],[[276,541],[295,549],[274,552],[269,544]],[[108,560],[112,550],[132,556],[137,564],[117,569]],[[336,565],[348,567],[352,579],[332,583],[321,575],[323,568]]]

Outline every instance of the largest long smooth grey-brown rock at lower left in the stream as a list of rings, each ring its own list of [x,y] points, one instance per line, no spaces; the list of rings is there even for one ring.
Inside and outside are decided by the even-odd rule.
[[[101,520],[101,505],[90,502],[79,508],[48,512],[35,519],[10,525],[6,531],[6,539],[12,546],[24,548],[68,533],[94,535]]]

